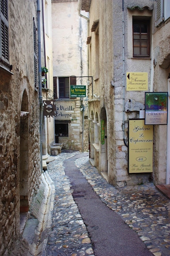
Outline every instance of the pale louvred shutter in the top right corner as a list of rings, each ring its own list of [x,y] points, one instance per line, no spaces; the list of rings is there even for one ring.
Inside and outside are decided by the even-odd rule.
[[[158,27],[163,21],[170,18],[170,0],[156,0],[155,25]]]

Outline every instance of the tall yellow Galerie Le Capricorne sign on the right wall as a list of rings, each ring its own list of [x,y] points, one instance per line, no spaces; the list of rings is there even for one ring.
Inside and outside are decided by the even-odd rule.
[[[153,172],[153,125],[129,120],[129,173]]]

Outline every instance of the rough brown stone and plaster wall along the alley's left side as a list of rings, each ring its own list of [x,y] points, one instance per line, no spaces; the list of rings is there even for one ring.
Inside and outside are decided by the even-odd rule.
[[[28,207],[39,187],[39,93],[34,88],[33,17],[36,5],[28,0],[8,1],[9,62],[12,74],[0,69],[0,255],[20,234],[20,168],[26,172]],[[27,32],[26,32],[27,31]],[[23,94],[24,93],[24,94]],[[24,95],[24,96],[23,96]],[[23,99],[23,105],[22,103]],[[27,164],[20,166],[20,112],[27,111]],[[25,123],[25,124],[26,124]],[[24,165],[24,164],[23,164]],[[24,168],[26,167],[27,170]]]

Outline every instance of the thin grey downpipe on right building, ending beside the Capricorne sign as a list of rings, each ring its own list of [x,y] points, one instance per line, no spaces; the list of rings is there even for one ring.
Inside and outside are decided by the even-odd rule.
[[[125,115],[125,110],[124,110],[124,100],[125,100],[125,72],[124,72],[124,0],[122,0],[122,27],[123,27],[123,138],[124,138],[124,144],[126,147],[128,145],[125,142],[125,136],[124,136],[124,115]]]

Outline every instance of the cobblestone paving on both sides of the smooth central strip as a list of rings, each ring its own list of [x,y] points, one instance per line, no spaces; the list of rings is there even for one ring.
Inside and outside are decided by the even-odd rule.
[[[94,256],[85,224],[71,195],[70,181],[63,162],[80,152],[61,153],[48,164],[55,185],[52,230],[46,245],[46,256]],[[122,216],[125,223],[138,233],[155,256],[170,256],[170,200],[148,183],[116,189],[108,184],[89,156],[75,161],[100,199]]]

